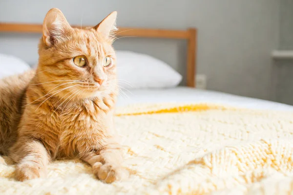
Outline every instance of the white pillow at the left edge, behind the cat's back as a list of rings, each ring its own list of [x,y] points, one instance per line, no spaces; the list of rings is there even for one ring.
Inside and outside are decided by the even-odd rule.
[[[18,57],[0,53],[0,78],[20,74],[30,66]]]

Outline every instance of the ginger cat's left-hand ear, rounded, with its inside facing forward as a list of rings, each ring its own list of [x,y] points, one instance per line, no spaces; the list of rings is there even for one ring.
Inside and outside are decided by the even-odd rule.
[[[52,8],[46,14],[42,25],[42,38],[47,46],[61,41],[72,28],[58,8]]]

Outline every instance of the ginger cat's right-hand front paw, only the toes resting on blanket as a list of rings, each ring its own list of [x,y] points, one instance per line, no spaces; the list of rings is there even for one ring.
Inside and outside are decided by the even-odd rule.
[[[122,181],[127,179],[129,176],[129,173],[122,167],[110,164],[103,165],[100,162],[94,164],[93,171],[99,179],[105,181],[106,183]]]

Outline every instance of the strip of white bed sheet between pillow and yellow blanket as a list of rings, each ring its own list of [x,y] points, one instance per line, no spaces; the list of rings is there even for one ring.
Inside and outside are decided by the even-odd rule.
[[[120,93],[117,106],[136,103],[214,103],[241,108],[293,111],[293,106],[290,105],[190,87],[123,91],[125,94]]]

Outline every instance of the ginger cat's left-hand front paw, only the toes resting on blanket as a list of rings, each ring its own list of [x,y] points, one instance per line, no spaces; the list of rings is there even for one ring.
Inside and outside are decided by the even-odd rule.
[[[31,163],[20,164],[16,168],[15,177],[19,181],[46,177],[46,169],[32,165]]]

